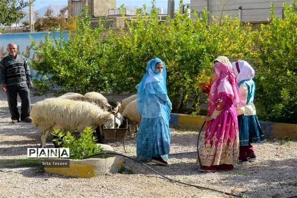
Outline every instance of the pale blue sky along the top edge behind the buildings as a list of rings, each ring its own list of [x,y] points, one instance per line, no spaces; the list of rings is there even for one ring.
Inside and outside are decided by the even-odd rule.
[[[34,10],[40,9],[44,6],[47,6],[49,4],[67,4],[67,0],[35,0],[34,3]],[[179,0],[175,0],[175,9],[178,8]],[[163,7],[167,8],[168,0],[156,0],[156,6],[157,7]],[[190,0],[184,0],[184,3],[190,3]],[[143,6],[143,4],[146,4],[147,6],[151,5],[151,0],[116,0],[116,7],[119,7],[121,4],[124,5],[138,5]]]

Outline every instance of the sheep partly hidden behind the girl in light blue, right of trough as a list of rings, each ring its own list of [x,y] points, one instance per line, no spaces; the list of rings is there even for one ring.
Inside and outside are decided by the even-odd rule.
[[[133,138],[134,130],[136,128],[138,131],[138,125],[141,121],[141,114],[138,114],[137,99],[133,100],[126,106],[122,115],[128,119],[128,123],[131,125],[130,137]]]

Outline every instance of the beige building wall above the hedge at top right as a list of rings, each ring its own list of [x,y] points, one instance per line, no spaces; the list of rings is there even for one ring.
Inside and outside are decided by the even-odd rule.
[[[239,17],[242,22],[259,22],[270,19],[271,2],[274,3],[274,15],[280,18],[284,18],[283,3],[292,5],[292,0],[191,0],[191,9],[195,9],[198,16],[206,7],[210,16],[228,14]]]

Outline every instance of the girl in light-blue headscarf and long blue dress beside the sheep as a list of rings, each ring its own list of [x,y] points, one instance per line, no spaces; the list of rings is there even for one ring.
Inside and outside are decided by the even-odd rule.
[[[136,139],[137,157],[167,165],[172,104],[166,89],[166,66],[161,59],[148,61],[147,72],[136,89],[138,113],[142,115]]]

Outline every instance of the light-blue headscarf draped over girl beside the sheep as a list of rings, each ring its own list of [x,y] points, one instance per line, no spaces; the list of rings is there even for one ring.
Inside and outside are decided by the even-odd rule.
[[[159,70],[156,68],[156,64],[163,63],[163,71],[159,73]],[[163,94],[167,94],[166,88],[166,66],[165,63],[160,58],[153,58],[148,61],[147,73],[144,75],[140,83],[135,87],[137,89],[137,106],[138,113],[143,113],[143,102],[145,95],[148,93],[154,93],[153,90],[147,90],[145,93],[145,88],[148,83],[158,82],[159,85],[163,88]]]

